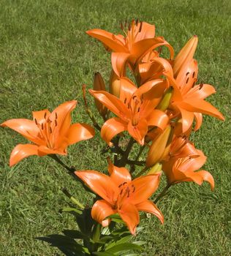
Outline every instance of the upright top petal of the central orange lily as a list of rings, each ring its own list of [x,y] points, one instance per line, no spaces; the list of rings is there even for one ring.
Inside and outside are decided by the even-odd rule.
[[[120,99],[122,102],[127,104],[135,91],[137,91],[137,87],[131,80],[128,78],[121,78]]]

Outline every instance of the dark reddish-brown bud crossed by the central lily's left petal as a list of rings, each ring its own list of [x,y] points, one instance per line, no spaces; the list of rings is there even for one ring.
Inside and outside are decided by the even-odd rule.
[[[100,75],[99,72],[96,72],[94,75],[94,90],[95,91],[105,91],[105,82],[102,79],[102,76]],[[98,99],[94,99],[96,108],[99,112],[99,115],[102,116],[102,118],[105,119],[105,116],[107,115],[107,108],[105,107],[105,105],[102,105],[101,102],[99,102]]]

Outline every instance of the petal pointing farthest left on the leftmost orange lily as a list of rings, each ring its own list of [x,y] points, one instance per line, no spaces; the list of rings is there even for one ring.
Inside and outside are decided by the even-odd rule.
[[[39,128],[32,120],[23,118],[10,119],[4,121],[4,123],[1,124],[1,127],[9,127],[10,129],[15,130],[16,132],[20,133],[20,135],[23,135],[23,137],[31,140],[35,144],[43,143],[43,141],[38,138]]]

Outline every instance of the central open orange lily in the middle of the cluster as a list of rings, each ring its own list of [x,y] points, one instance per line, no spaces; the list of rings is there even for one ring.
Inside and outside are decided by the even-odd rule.
[[[121,78],[120,99],[107,91],[90,93],[99,99],[110,111],[118,117],[110,118],[101,129],[101,136],[109,146],[110,140],[118,133],[128,131],[141,145],[144,144],[148,127],[164,129],[169,121],[162,110],[155,110],[167,88],[166,80],[151,80],[137,89],[128,78]]]

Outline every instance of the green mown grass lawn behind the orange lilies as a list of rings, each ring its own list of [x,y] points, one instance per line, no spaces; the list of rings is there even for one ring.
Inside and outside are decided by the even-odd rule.
[[[91,88],[97,71],[107,80],[110,55],[86,35],[88,29],[118,32],[120,21],[140,18],[155,23],[156,34],[176,52],[197,34],[199,80],[216,86],[209,100],[226,117],[221,122],[206,116],[192,136],[208,156],[205,170],[213,174],[216,189],[189,183],[173,187],[158,203],[164,225],[146,219],[139,238],[148,241],[142,254],[147,256],[231,255],[230,1],[2,0],[0,10],[0,122],[31,118],[32,110],[78,99],[73,121],[90,123],[81,85]],[[83,203],[91,203],[91,196],[83,197],[81,187],[48,157],[29,157],[10,168],[12,148],[24,142],[16,132],[0,130],[0,255],[56,255],[56,249],[34,238],[75,228],[71,217],[58,213],[67,206],[61,188]],[[64,161],[79,170],[105,170],[104,145],[96,135],[71,146]]]

